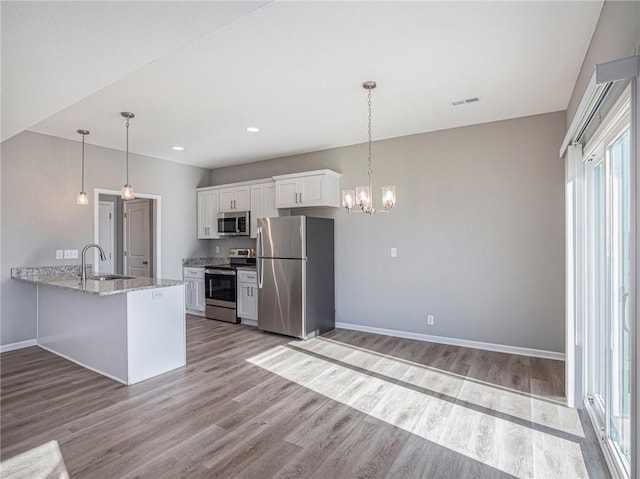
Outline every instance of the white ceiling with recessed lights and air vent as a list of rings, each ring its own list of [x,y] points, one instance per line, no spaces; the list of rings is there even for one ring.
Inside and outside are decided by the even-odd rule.
[[[365,80],[374,139],[564,110],[602,1],[30,5],[2,4],[3,139],[123,149],[132,111],[131,151],[214,168],[365,142]]]

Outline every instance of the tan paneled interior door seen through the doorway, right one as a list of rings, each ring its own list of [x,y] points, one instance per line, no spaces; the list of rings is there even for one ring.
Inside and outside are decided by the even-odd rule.
[[[124,202],[124,270],[130,276],[151,276],[149,200]]]

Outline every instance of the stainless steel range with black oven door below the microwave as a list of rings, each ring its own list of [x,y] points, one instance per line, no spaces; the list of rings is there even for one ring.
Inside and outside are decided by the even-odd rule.
[[[229,264],[205,266],[205,316],[228,323],[239,323],[236,314],[236,269],[254,266],[256,255],[253,248],[231,248]]]

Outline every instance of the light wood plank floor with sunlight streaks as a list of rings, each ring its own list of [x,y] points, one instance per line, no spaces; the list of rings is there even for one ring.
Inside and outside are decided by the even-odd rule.
[[[195,316],[187,350],[129,387],[2,354],[2,459],[57,440],[71,478],[609,477],[558,361]]]

